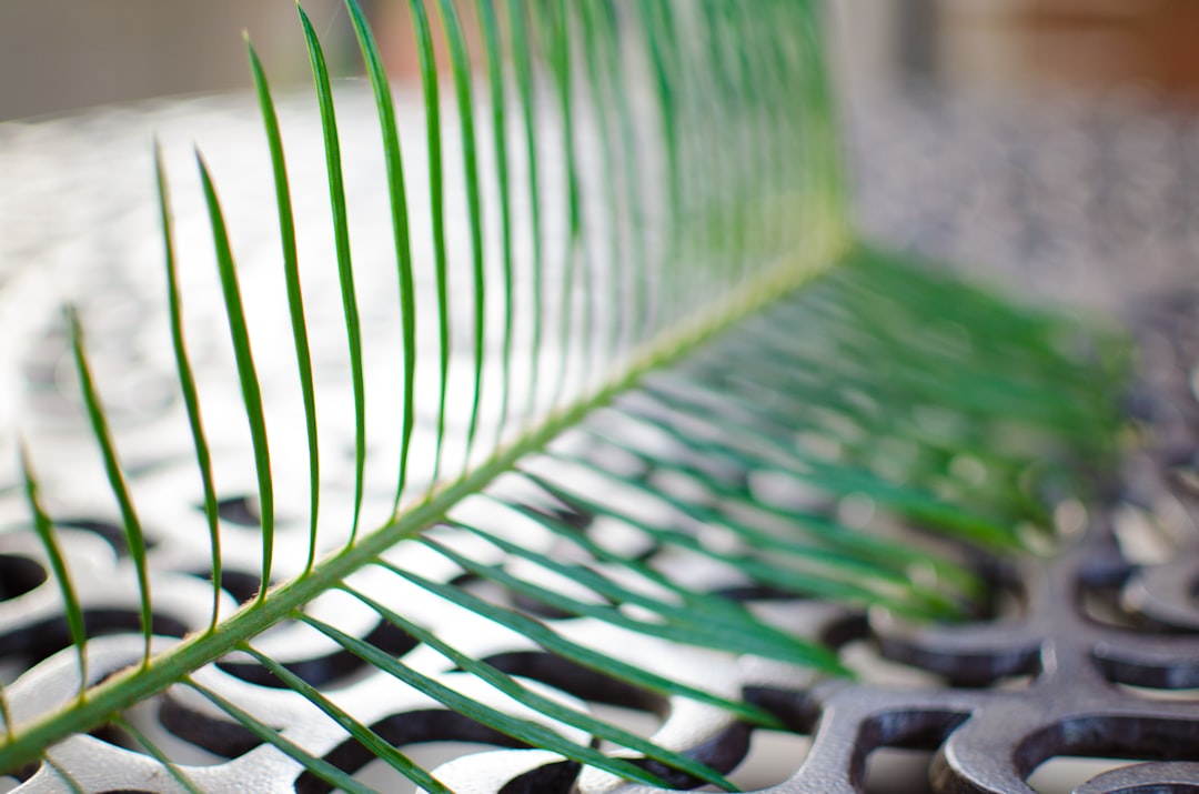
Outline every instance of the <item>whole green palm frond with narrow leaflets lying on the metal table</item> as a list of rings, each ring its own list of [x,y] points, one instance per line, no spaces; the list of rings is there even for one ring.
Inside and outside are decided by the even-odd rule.
[[[30,519],[16,531],[40,540],[67,628],[60,654],[2,692],[0,770],[41,764],[86,790],[88,769],[71,762],[83,745],[71,742],[107,726],[163,780],[205,790],[210,772],[139,727],[138,709],[175,698],[245,747],[273,747],[296,776],[367,790],[357,762],[335,752],[356,742],[415,786],[451,790],[396,746],[386,715],[349,688],[323,688],[272,639],[299,632],[496,744],[629,781],[733,789],[727,769],[594,715],[518,657],[546,655],[614,692],[687,702],[729,724],[777,727],[781,716],[740,684],[671,666],[663,649],[689,649],[699,668],[731,670],[749,655],[796,675],[852,674],[820,638],[755,602],[809,598],[916,620],[978,613],[978,560],[1053,542],[1054,506],[1091,498],[1111,465],[1117,339],[855,241],[809,4],[408,6],[416,104],[406,94],[397,102],[348,0],[378,112],[385,257],[359,247],[335,109],[349,89],[331,79],[317,29],[301,11],[332,210],[327,261],[311,263],[300,243],[295,161],[249,48],[291,350],[253,332],[263,296],[239,264],[241,219],[219,198],[218,169],[198,156],[235,385],[197,375],[185,338],[195,296],[181,279],[192,257],[176,242],[157,155],[163,344],[194,469],[191,504],[204,515],[197,531],[211,552],[212,606],[186,636],[159,630],[156,604],[180,575],[156,567],[120,428],[70,314],[140,644],[131,657],[127,644],[95,636],[70,527],[55,525],[42,495],[55,461],[30,445]],[[305,283],[313,267],[336,273],[347,366],[332,373],[315,353],[332,335],[313,320],[324,306]],[[363,294],[368,272],[394,276],[398,336],[375,338],[368,324],[363,307],[379,299]],[[273,414],[267,393],[278,387],[261,362],[293,355],[302,408]],[[380,375],[391,386],[373,390]],[[323,381],[343,377],[349,397],[330,398]],[[240,416],[211,408],[222,389],[239,395]],[[380,427],[375,405],[396,421]],[[331,417],[345,438],[324,429]],[[229,422],[245,429],[243,458],[228,452],[224,428],[212,440]],[[281,452],[295,449],[294,461]],[[257,481],[260,546],[257,594],[237,606],[223,581],[230,535],[242,539],[221,506],[234,459],[252,461],[241,468]],[[295,467],[299,479],[281,474]],[[343,610],[382,628],[360,632]],[[228,672],[247,668],[258,672]],[[294,696],[285,714],[246,696],[261,680]]]

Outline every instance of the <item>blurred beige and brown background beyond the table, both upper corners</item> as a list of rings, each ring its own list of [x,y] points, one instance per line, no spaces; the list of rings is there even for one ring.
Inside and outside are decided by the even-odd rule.
[[[403,4],[363,2],[396,71],[410,70]],[[998,96],[1199,96],[1193,0],[835,0],[843,72],[875,85]],[[348,34],[336,0],[305,4],[319,32]],[[279,82],[307,79],[287,0],[5,0],[0,120],[248,83],[248,30]],[[353,42],[342,42],[349,55]],[[337,44],[333,43],[333,58]]]

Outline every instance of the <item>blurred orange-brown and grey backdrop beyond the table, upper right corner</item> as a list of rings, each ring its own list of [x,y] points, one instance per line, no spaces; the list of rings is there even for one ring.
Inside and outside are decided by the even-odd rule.
[[[855,78],[1199,101],[1199,0],[831,0]]]

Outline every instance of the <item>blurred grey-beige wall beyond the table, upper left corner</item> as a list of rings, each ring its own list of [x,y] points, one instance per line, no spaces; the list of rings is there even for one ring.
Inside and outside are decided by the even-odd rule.
[[[349,53],[342,4],[305,7],[333,56]],[[276,82],[308,79],[291,0],[2,0],[0,120],[246,88],[242,30]]]

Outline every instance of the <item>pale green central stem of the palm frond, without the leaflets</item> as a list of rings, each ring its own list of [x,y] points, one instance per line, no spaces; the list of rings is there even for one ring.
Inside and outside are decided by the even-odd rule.
[[[325,557],[307,575],[277,585],[263,600],[247,602],[218,624],[215,631],[187,637],[174,648],[151,657],[147,666],[137,664],[107,678],[90,688],[84,699],[72,700],[64,709],[17,726],[17,730],[0,746],[0,771],[37,762],[50,745],[109,722],[115,715],[165,691],[200,667],[233,652],[239,644],[287,619],[295,609],[368,565],[386,549],[435,525],[458,501],[486,488],[519,458],[541,450],[588,413],[629,389],[647,371],[683,357],[737,320],[788,295],[837,264],[854,247],[854,237],[838,204],[813,200],[797,211],[796,217],[811,218],[802,251],[793,252],[764,269],[700,317],[659,335],[638,355],[632,356],[627,368],[607,385],[549,414],[517,441],[496,450],[477,468],[435,488],[391,522],[363,535],[353,547]]]

